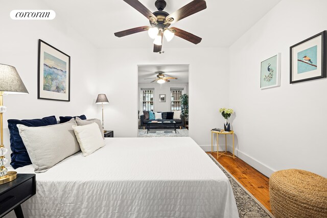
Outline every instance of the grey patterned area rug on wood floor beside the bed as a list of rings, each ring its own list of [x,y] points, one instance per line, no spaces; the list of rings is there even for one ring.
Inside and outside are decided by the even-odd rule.
[[[274,218],[265,206],[256,200],[211,154],[208,155],[229,179],[240,218]]]

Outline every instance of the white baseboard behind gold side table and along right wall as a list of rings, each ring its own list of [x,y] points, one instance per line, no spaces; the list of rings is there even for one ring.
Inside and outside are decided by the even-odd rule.
[[[204,145],[204,146],[200,146],[201,149],[205,152],[211,152],[211,145]],[[216,146],[214,146],[215,148]],[[227,146],[227,150],[229,152],[232,152],[232,147],[231,146]],[[225,151],[225,146],[219,146],[219,151]],[[262,173],[263,175],[270,177],[270,175],[274,172],[276,172],[274,169],[272,169],[271,167],[267,166],[266,164],[252,158],[251,156],[245,154],[244,152],[241,152],[238,149],[235,149],[235,155],[242,159],[244,162],[248,163],[250,166],[252,166],[253,168],[255,168],[257,171],[259,171],[260,173]]]

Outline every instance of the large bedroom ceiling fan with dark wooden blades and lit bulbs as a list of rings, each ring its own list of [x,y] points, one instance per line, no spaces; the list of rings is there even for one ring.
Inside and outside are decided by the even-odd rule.
[[[206,3],[204,0],[194,0],[190,2],[189,4],[181,7],[177,11],[175,11],[172,14],[167,13],[164,11],[166,7],[166,1],[165,0],[157,0],[155,1],[154,5],[158,9],[158,11],[151,12],[149,9],[147,9],[144,5],[142,5],[141,2],[137,0],[123,0],[133,8],[135,8],[138,12],[146,16],[150,20],[149,26],[143,26],[143,27],[136,27],[120,32],[114,33],[117,37],[123,37],[134,33],[139,33],[143,31],[148,31],[148,34],[151,38],[154,39],[154,47],[153,52],[159,52],[164,53],[164,51],[161,51],[162,48],[162,38],[165,36],[167,41],[172,40],[174,35],[188,40],[194,44],[198,44],[201,42],[201,38],[193,35],[192,33],[183,31],[181,29],[178,29],[176,27],[170,27],[173,23],[177,22],[178,20],[181,20],[185,17],[188,17],[192,14],[195,14],[199,11],[202,11],[206,9]]]

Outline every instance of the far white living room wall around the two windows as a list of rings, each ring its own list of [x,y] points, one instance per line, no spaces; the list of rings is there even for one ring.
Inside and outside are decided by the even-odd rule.
[[[166,112],[171,111],[171,99],[170,99],[170,88],[183,88],[183,94],[188,93],[188,83],[164,83],[160,86],[159,83],[153,82],[149,84],[141,83],[138,84],[138,110],[142,109],[142,92],[141,88],[154,88],[154,112]],[[159,95],[166,94],[166,102],[159,102]]]

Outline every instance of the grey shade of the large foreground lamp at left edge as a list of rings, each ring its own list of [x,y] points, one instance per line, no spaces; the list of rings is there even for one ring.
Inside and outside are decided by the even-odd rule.
[[[0,92],[3,94],[28,94],[15,67],[0,64]]]

